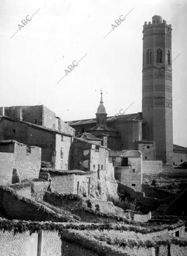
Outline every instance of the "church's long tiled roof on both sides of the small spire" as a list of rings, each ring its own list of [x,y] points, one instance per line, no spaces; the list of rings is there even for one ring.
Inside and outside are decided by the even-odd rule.
[[[107,122],[112,122],[115,120],[124,120],[124,121],[142,121],[142,117],[140,113],[134,113],[129,115],[116,115],[116,116],[108,116]],[[84,119],[84,120],[75,120],[75,121],[67,121],[70,126],[78,126],[78,125],[89,125],[96,123],[96,118],[92,119]]]

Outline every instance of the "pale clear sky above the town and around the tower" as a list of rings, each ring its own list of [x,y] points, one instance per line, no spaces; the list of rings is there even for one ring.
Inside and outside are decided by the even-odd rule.
[[[143,24],[154,15],[173,29],[173,138],[187,146],[186,0],[0,0],[0,106],[95,118],[102,90],[108,116],[140,112]]]

